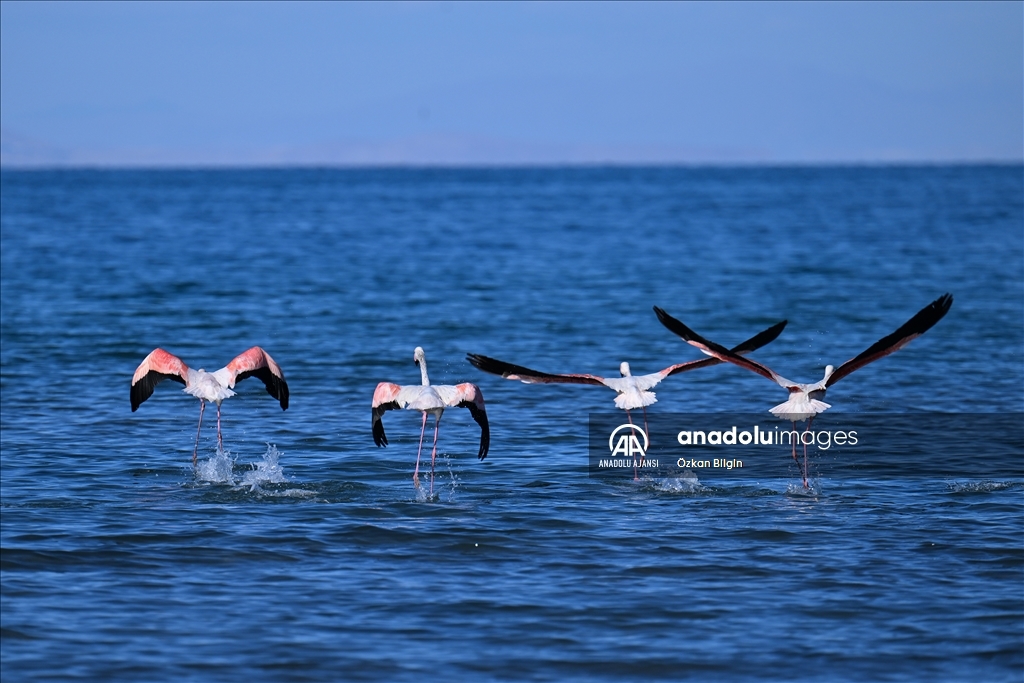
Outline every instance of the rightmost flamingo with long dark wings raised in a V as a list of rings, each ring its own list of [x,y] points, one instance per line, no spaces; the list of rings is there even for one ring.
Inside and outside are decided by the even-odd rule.
[[[683,341],[696,346],[708,355],[718,358],[719,360],[725,360],[727,362],[737,365],[740,368],[746,368],[762,377],[766,377],[788,391],[790,397],[785,400],[785,402],[779,403],[775,408],[771,409],[770,412],[772,415],[781,420],[788,420],[792,422],[794,431],[797,429],[798,422],[806,420],[807,429],[805,429],[805,431],[808,431],[811,428],[811,422],[814,420],[814,416],[831,408],[831,404],[822,400],[825,397],[825,391],[828,387],[836,382],[839,382],[855,370],[860,370],[869,362],[873,362],[879,358],[883,358],[890,353],[895,353],[900,350],[911,341],[932,329],[932,326],[941,321],[945,314],[949,312],[949,307],[952,305],[952,295],[948,293],[943,294],[938,299],[918,311],[913,317],[904,323],[898,330],[896,330],[896,332],[883,337],[879,341],[871,344],[871,346],[869,346],[863,353],[850,358],[838,368],[825,366],[825,376],[819,381],[810,384],[801,384],[799,382],[787,380],[767,366],[751,360],[750,358],[744,358],[724,346],[705,339],[657,306],[654,306],[654,312],[657,314],[657,319],[662,321],[662,325],[679,335]],[[801,441],[804,441],[804,439],[801,438]],[[797,461],[796,441],[793,441],[793,459]],[[799,461],[797,462],[799,463]],[[804,487],[807,488],[806,442],[804,443],[803,477]]]

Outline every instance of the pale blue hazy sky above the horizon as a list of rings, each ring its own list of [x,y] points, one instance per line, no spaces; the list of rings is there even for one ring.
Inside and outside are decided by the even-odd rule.
[[[1024,5],[0,4],[12,165],[1024,159]]]

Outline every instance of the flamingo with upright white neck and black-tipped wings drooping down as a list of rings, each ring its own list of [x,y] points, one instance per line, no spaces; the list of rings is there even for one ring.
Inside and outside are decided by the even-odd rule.
[[[468,408],[476,424],[480,425],[480,451],[477,458],[487,457],[490,447],[490,427],[487,425],[487,412],[483,405],[483,393],[475,384],[464,383],[451,385],[430,384],[427,376],[427,358],[423,347],[417,346],[413,351],[413,362],[420,368],[421,384],[401,386],[391,382],[381,382],[374,391],[373,401],[373,434],[374,443],[378,447],[387,446],[387,435],[384,434],[382,417],[386,411],[404,409],[423,413],[423,424],[420,425],[420,446],[416,452],[416,470],[413,472],[413,484],[420,485],[420,454],[423,451],[423,434],[427,429],[427,416],[434,416],[434,447],[430,453],[430,495],[434,493],[434,462],[437,458],[437,427],[445,408]]]

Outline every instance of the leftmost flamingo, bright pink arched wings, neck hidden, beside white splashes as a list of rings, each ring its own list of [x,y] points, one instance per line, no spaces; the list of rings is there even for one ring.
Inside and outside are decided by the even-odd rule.
[[[154,349],[145,356],[131,379],[131,412],[134,413],[153,390],[164,380],[174,380],[185,385],[184,392],[199,398],[199,427],[196,429],[196,447],[193,449],[193,467],[199,451],[199,435],[203,428],[203,411],[206,401],[217,404],[217,445],[224,449],[220,433],[220,403],[234,395],[234,385],[247,377],[257,377],[266,385],[266,392],[281,401],[281,410],[288,410],[288,383],[281,367],[270,354],[259,346],[253,346],[241,353],[215,373],[203,369],[193,370],[181,358],[162,348]]]

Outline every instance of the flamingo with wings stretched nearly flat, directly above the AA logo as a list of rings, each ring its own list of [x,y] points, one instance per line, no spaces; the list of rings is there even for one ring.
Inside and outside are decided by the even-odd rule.
[[[765,344],[774,341],[781,334],[785,325],[786,321],[777,323],[734,347],[732,351],[734,353],[750,353],[757,350]],[[718,358],[689,360],[669,366],[650,375],[635,376],[630,372],[630,364],[623,361],[618,366],[620,377],[599,377],[597,375],[556,375],[542,373],[477,353],[468,353],[466,357],[474,367],[485,373],[500,375],[508,380],[519,380],[524,384],[594,384],[606,386],[615,391],[615,408],[626,411],[626,419],[629,420],[631,425],[633,424],[633,418],[630,416],[630,411],[638,408],[643,410],[644,433],[649,433],[647,428],[647,407],[657,402],[654,392],[650,391],[650,389],[657,386],[667,377],[696,370],[697,368],[716,366],[721,362]],[[634,479],[637,478],[636,468],[634,468],[633,477]]]

